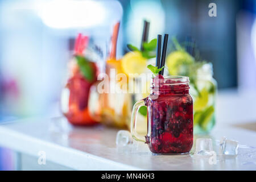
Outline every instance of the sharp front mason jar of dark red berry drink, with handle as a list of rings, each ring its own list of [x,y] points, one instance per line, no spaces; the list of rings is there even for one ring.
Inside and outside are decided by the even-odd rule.
[[[136,132],[137,113],[147,106],[147,135]],[[155,154],[186,154],[193,146],[193,100],[189,78],[157,76],[151,80],[150,96],[136,102],[131,116],[131,134],[148,144]]]

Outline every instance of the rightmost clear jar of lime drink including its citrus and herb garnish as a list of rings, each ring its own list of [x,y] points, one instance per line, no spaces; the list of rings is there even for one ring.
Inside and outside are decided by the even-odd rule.
[[[189,92],[194,103],[194,133],[209,133],[215,125],[217,82],[211,63],[195,60],[185,48],[174,41],[176,50],[167,56],[170,75],[188,76]]]

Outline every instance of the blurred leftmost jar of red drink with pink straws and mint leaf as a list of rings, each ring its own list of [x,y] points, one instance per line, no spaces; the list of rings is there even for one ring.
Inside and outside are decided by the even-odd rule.
[[[88,100],[90,87],[97,81],[100,54],[88,47],[89,38],[76,39],[75,53],[68,62],[68,74],[61,92],[61,111],[73,125],[93,125],[97,122],[90,116]]]

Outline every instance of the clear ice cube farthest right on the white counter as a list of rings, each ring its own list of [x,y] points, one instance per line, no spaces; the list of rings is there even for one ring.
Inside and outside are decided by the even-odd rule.
[[[237,155],[238,142],[236,140],[229,140],[226,137],[222,137],[220,142],[220,154],[221,155]]]

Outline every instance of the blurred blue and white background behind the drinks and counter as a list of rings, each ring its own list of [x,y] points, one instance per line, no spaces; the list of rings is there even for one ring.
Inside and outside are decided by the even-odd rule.
[[[217,17],[208,15],[211,2]],[[255,18],[254,0],[0,0],[0,122],[61,115],[60,92],[77,33],[92,36],[104,60],[118,20],[118,57],[127,43],[139,47],[147,19],[149,39],[164,33],[180,42],[195,39],[201,57],[213,64],[220,91],[254,93]]]

